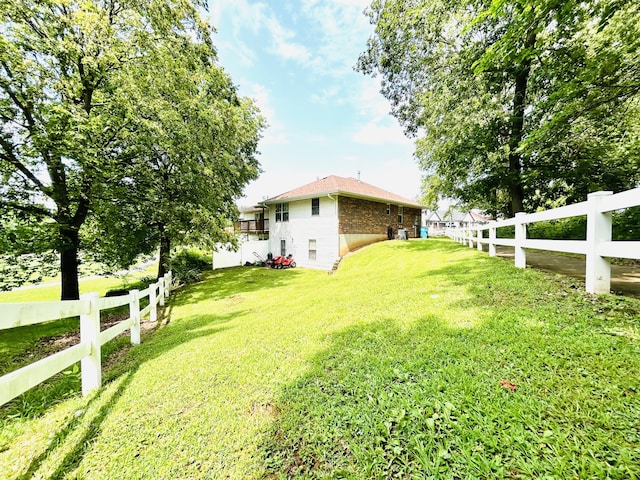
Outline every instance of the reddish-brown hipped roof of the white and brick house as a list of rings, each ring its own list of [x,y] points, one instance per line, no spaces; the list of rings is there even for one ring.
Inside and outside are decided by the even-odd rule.
[[[316,180],[315,182],[308,183],[301,187],[269,198],[268,200],[265,200],[264,203],[270,204],[281,202],[283,200],[302,200],[305,198],[313,198],[331,194],[344,195],[347,197],[367,198],[380,202],[422,208],[419,203],[414,202],[413,200],[401,197],[400,195],[396,195],[395,193],[387,192],[386,190],[378,188],[369,183],[365,183],[351,177],[344,178],[335,175],[321,178],[320,180]]]

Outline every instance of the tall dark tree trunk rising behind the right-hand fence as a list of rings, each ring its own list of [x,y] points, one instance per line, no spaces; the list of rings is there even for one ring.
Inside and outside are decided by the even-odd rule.
[[[536,43],[536,33],[530,31],[525,39],[524,48],[530,49]],[[509,137],[509,216],[524,210],[524,192],[522,190],[522,157],[517,151],[524,133],[524,109],[527,99],[527,83],[531,72],[531,59],[525,57],[515,72],[515,90],[513,111],[511,114],[511,135]]]

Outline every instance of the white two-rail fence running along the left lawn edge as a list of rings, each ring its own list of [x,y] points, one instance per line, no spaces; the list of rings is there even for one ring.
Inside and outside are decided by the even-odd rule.
[[[58,302],[1,303],[0,330],[80,316],[80,343],[0,377],[0,405],[80,362],[82,394],[102,385],[101,347],[122,332],[131,330],[131,343],[140,343],[140,320],[149,315],[157,321],[158,305],[164,306],[171,290],[171,272],[142,291],[131,290],[119,297],[99,298],[87,293],[80,300]],[[140,310],[140,299],[149,305]],[[100,331],[100,312],[129,305],[129,318]]]

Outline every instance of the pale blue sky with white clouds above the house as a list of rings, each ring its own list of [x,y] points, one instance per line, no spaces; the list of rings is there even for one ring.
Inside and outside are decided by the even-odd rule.
[[[372,26],[365,0],[210,0],[220,63],[269,123],[264,172],[243,206],[328,175],[414,199],[413,141],[391,117],[379,79],[353,70]]]

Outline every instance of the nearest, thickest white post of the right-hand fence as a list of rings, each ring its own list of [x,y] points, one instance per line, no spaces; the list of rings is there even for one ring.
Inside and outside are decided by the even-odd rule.
[[[613,192],[593,192],[587,195],[587,263],[585,286],[589,293],[609,293],[611,290],[611,262],[598,255],[600,242],[611,241],[611,212],[599,209],[603,197]]]

